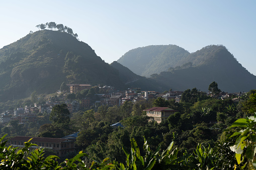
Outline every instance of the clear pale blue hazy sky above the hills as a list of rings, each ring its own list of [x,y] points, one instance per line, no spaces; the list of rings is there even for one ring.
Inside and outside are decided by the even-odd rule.
[[[0,48],[38,24],[70,27],[107,63],[131,49],[178,45],[195,52],[224,45],[256,75],[256,1],[1,1]],[[235,68],[234,68],[235,69]]]

